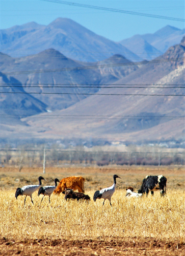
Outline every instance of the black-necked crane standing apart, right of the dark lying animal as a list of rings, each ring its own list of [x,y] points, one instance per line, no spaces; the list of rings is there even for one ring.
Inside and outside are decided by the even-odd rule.
[[[104,201],[106,199],[109,200],[110,202],[110,205],[112,206],[111,204],[111,197],[112,195],[114,194],[114,191],[116,189],[116,178],[120,178],[119,176],[117,176],[116,174],[113,176],[113,179],[114,179],[114,184],[111,186],[111,187],[107,187],[107,188],[103,188],[101,190],[97,190],[95,193],[94,193],[94,197],[93,197],[93,200],[96,202],[96,199],[101,199],[103,198]],[[121,178],[120,178],[121,179]],[[104,201],[103,201],[103,204],[104,204]]]

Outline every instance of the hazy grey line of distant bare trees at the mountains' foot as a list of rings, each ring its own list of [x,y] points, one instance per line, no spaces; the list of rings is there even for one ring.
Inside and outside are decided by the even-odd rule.
[[[150,151],[149,151],[150,150]],[[52,145],[46,148],[46,165],[60,166],[62,164],[96,164],[103,165],[170,165],[185,164],[185,153],[178,152],[177,149],[171,149],[166,152],[166,148],[127,147],[127,152],[105,152],[101,148],[91,148],[87,150],[84,146],[76,146],[61,150],[58,145]],[[20,146],[16,149],[5,147],[0,150],[1,165],[18,166],[21,171],[23,166],[42,166],[44,145],[36,148]]]

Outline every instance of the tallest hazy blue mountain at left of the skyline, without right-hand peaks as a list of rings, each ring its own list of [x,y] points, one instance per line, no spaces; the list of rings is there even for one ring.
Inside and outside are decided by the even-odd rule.
[[[68,18],[57,18],[49,25],[34,22],[0,31],[1,51],[13,57],[37,54],[54,48],[68,58],[99,61],[121,54],[132,61],[142,60],[118,42],[86,29]]]

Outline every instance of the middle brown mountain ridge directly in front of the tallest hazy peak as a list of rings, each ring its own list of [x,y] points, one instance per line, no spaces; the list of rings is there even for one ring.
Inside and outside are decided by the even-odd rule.
[[[0,57],[1,71],[17,79],[25,92],[33,93],[46,105],[47,111],[66,109],[89,93],[98,92],[101,84],[114,83],[142,66],[121,55],[91,63],[76,61],[55,49],[21,58],[3,53]]]

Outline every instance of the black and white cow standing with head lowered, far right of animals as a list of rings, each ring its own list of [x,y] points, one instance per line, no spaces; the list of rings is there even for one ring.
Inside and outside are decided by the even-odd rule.
[[[138,193],[145,193],[148,196],[149,191],[151,191],[151,195],[153,196],[153,191],[159,190],[161,191],[161,196],[166,195],[166,182],[167,178],[163,175],[159,176],[146,176],[143,180],[141,188],[138,190]]]

